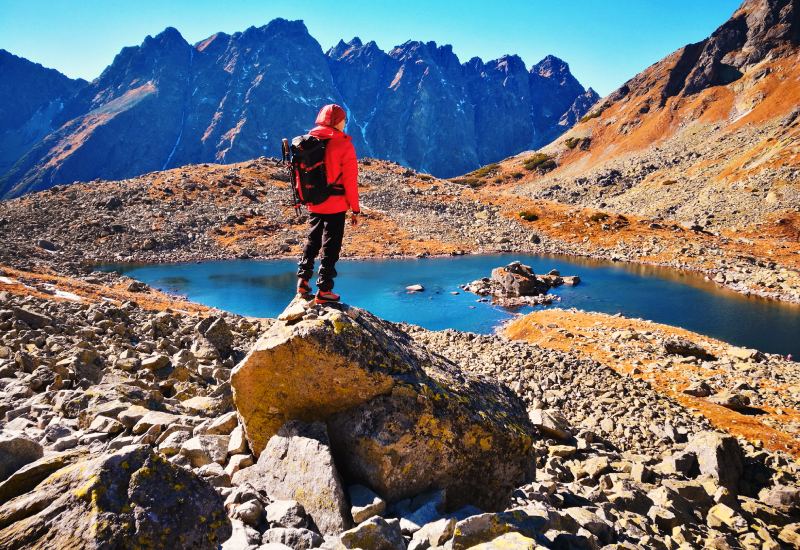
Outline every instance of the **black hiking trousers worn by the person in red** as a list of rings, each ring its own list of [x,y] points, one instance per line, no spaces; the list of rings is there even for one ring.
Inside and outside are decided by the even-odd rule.
[[[306,239],[303,257],[297,264],[297,276],[308,281],[314,274],[314,260],[320,249],[319,278],[317,288],[328,292],[333,289],[333,278],[336,277],[336,261],[342,250],[344,237],[345,212],[338,214],[311,214],[309,220],[311,231]]]

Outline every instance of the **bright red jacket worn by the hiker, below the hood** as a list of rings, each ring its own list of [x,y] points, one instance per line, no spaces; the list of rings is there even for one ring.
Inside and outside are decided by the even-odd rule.
[[[325,170],[328,182],[333,183],[341,175],[339,183],[344,185],[344,195],[331,195],[321,204],[308,205],[308,209],[315,214],[338,214],[347,212],[348,209],[360,212],[358,162],[350,136],[330,126],[317,126],[309,134],[328,140],[325,146]]]

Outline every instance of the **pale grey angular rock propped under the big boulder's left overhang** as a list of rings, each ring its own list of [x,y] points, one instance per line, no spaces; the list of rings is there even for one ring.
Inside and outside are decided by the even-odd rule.
[[[352,523],[325,424],[321,422],[287,422],[269,440],[258,462],[237,472],[233,482],[248,482],[273,498],[296,500],[323,534],[335,535]]]

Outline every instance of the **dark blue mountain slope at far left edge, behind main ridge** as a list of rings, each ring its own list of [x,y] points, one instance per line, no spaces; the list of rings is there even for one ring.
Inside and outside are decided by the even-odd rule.
[[[0,49],[0,174],[53,130],[64,102],[86,85]],[[0,187],[0,196],[3,189]]]

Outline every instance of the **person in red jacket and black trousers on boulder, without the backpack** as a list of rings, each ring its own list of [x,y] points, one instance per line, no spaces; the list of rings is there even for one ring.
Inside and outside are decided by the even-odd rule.
[[[317,115],[316,127],[310,135],[326,140],[325,170],[329,185],[336,192],[319,204],[309,204],[311,212],[310,231],[298,263],[297,293],[304,297],[312,294],[309,280],[314,274],[314,260],[320,256],[319,278],[315,302],[338,302],[339,295],[333,293],[336,277],[336,261],[342,249],[345,215],[352,211],[350,223],[358,225],[361,211],[358,206],[358,163],[356,150],[350,136],[343,132],[346,122],[344,109],[336,104],[325,105]]]

